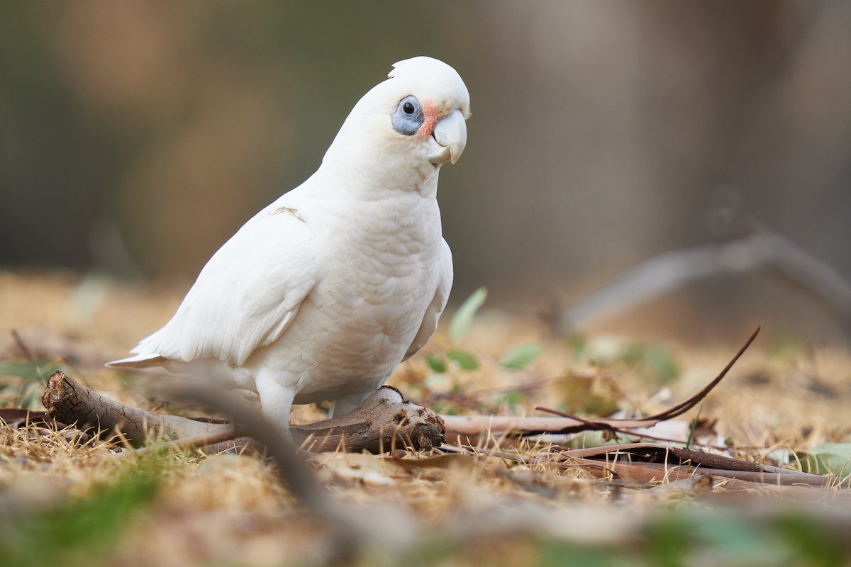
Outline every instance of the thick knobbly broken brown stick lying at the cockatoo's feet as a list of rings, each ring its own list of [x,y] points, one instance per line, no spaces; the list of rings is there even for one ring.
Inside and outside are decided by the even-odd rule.
[[[189,386],[174,394],[193,397]],[[230,446],[251,446],[231,424],[201,422],[187,417],[151,413],[133,405],[111,400],[83,386],[62,371],[54,372],[44,388],[42,404],[49,417],[61,423],[76,423],[78,428],[119,431],[134,444],[151,439],[172,440],[185,447],[207,446],[208,450]],[[389,386],[379,388],[357,410],[346,416],[304,426],[292,426],[296,445],[310,451],[380,452],[391,445],[428,450],[443,443],[443,422],[424,407],[403,400]]]

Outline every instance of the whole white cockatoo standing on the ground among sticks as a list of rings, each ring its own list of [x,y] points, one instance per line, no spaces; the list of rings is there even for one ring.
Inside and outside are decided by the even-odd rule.
[[[437,328],[452,255],[440,166],[464,150],[470,95],[442,61],[393,65],[316,173],[215,252],[162,329],[109,366],[162,366],[260,394],[287,431],[295,404],[355,409]]]

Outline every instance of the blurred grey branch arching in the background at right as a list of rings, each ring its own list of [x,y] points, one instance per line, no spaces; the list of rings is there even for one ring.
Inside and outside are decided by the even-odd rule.
[[[564,309],[560,332],[572,332],[599,319],[635,307],[693,281],[772,267],[827,303],[851,324],[851,283],[836,269],[814,258],[789,239],[768,230],[720,245],[665,252],[638,264]]]

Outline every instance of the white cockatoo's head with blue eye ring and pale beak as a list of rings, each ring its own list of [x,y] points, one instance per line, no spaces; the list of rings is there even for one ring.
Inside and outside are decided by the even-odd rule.
[[[324,162],[404,189],[437,180],[467,141],[470,94],[458,72],[431,57],[399,61],[357,102]]]

